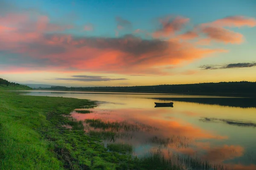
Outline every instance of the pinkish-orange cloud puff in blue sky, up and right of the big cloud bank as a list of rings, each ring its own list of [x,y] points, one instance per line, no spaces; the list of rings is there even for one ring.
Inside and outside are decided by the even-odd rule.
[[[166,17],[160,19],[161,28],[153,33],[153,37],[168,37],[174,34],[176,31],[180,31],[186,23],[189,22],[189,18],[184,17]]]

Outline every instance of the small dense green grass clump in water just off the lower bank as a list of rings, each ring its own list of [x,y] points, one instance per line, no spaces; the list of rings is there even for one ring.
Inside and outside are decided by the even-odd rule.
[[[132,145],[126,143],[112,143],[107,144],[107,148],[110,151],[118,152],[118,153],[132,153]]]

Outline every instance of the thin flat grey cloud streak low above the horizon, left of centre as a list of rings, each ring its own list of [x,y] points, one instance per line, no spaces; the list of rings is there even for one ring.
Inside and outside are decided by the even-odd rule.
[[[79,81],[79,82],[102,82],[102,81],[113,81],[113,80],[128,80],[125,78],[111,79],[104,76],[87,76],[87,75],[75,75],[72,78],[55,78],[52,80],[67,80],[67,81]]]

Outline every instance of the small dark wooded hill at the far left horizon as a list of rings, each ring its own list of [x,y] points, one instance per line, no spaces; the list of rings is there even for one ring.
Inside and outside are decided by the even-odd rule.
[[[0,90],[32,90],[32,88],[0,78]]]

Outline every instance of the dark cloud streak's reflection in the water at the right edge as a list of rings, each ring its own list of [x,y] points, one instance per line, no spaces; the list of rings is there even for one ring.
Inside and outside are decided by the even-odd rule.
[[[240,120],[232,120],[232,119],[216,119],[216,118],[207,118],[204,117],[199,119],[202,122],[224,122],[228,125],[242,126],[242,127],[256,127],[256,123],[249,121],[240,121]]]

